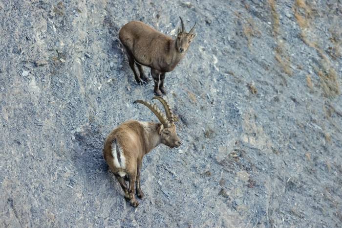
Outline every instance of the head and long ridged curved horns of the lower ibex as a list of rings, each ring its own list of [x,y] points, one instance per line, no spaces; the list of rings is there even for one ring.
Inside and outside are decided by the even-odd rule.
[[[152,100],[153,99],[157,99],[162,103],[165,109],[166,116],[158,109],[158,107],[155,104],[151,104],[148,101],[136,100],[133,103],[141,103],[147,106],[157,116],[161,123],[157,129],[161,143],[171,148],[179,147],[182,144],[182,142],[177,136],[176,125],[174,124],[174,122],[177,121],[177,118],[172,113],[170,106],[166,102],[166,100],[164,100],[160,96],[155,96],[152,98]]]

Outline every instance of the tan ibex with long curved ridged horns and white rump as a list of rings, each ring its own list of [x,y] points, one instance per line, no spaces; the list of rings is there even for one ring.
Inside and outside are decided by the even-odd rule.
[[[153,99],[162,103],[166,116],[155,104],[143,100],[134,103],[146,105],[158,117],[160,123],[128,120],[107,136],[104,146],[105,160],[124,190],[126,201],[134,207],[139,205],[134,197],[134,184],[137,196],[144,196],[140,188],[140,169],[144,156],[160,143],[171,148],[182,144],[174,124],[177,119],[169,104],[159,96]],[[128,187],[125,180],[129,182]]]

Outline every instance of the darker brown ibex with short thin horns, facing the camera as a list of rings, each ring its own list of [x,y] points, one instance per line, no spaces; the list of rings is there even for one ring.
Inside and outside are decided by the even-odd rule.
[[[182,28],[178,30],[175,40],[138,21],[125,24],[119,32],[119,39],[126,49],[129,66],[133,70],[135,80],[138,83],[148,82],[149,79],[142,66],[150,67],[154,80],[154,93],[158,96],[162,96],[162,93],[166,94],[165,73],[177,66],[196,36],[193,32],[196,23],[187,33],[182,18],[179,18]],[[139,75],[134,65],[138,67]]]

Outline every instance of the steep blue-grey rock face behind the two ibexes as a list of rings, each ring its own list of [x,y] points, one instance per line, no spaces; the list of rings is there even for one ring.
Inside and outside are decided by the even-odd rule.
[[[324,2],[0,2],[0,227],[340,226],[342,5]],[[183,145],[145,157],[133,208],[103,142],[157,119],[117,34],[178,16],[198,33],[165,79]]]

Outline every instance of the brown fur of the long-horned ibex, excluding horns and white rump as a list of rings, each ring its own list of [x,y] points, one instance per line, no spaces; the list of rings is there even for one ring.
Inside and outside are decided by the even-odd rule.
[[[114,166],[114,157],[112,156],[113,141],[116,141],[122,149],[126,160],[125,169],[118,169]],[[160,143],[171,148],[178,147],[181,144],[173,123],[169,128],[164,128],[161,123],[128,120],[115,128],[106,138],[104,146],[105,160],[124,190],[125,199],[132,206],[139,205],[134,197],[134,183],[137,196],[139,198],[144,196],[140,188],[140,169],[143,157]],[[120,171],[125,172],[126,177],[121,177],[119,175]],[[127,187],[124,178],[128,178],[129,187]]]

